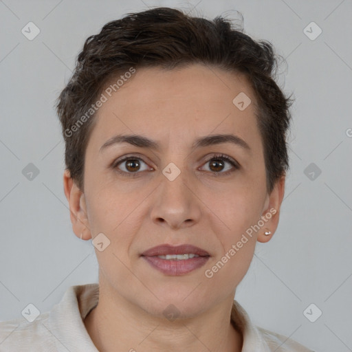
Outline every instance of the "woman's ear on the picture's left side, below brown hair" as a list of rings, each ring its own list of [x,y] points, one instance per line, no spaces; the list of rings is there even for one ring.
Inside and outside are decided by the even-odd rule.
[[[79,239],[91,239],[85,194],[78,188],[67,169],[63,174],[63,188],[66,198],[69,201],[69,212],[74,234]]]

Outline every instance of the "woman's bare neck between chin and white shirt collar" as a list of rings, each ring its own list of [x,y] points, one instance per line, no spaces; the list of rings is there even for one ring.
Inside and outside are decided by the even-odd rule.
[[[131,309],[129,303],[111,305],[103,297],[84,321],[100,352],[241,352],[243,336],[230,323],[230,314],[223,314],[219,307],[194,318],[168,321]]]

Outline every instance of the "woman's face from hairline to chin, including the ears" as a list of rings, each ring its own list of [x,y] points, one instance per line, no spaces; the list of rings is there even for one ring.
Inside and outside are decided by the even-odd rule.
[[[232,102],[241,92],[252,100],[244,110]],[[256,241],[276,229],[283,197],[283,183],[267,194],[250,85],[216,67],[148,68],[107,98],[87,145],[84,193],[64,177],[76,235],[110,241],[96,249],[100,287],[150,314],[172,303],[193,315],[232,300]],[[111,142],[132,134],[153,147]],[[212,135],[235,138],[205,139]],[[165,244],[208,255],[179,263],[142,256]]]

